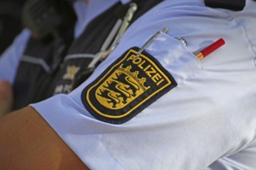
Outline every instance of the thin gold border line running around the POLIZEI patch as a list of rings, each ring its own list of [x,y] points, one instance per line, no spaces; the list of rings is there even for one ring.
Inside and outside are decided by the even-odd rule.
[[[119,63],[116,63],[114,66],[112,66],[112,68],[113,68],[113,67],[116,67],[117,65],[119,65],[120,63],[122,63],[123,60],[125,60],[126,57],[130,55],[130,53],[134,53],[134,54],[136,55],[136,54],[137,54],[137,51],[134,50],[134,49],[130,49],[130,51],[126,54],[126,56],[123,57],[123,59],[121,59],[121,60],[119,61]],[[117,118],[126,117],[126,115],[130,114],[130,112],[132,112],[133,110],[135,110],[137,107],[139,107],[139,106],[140,106],[141,104],[143,104],[145,101],[147,101],[150,97],[153,97],[156,93],[158,93],[159,91],[163,90],[165,87],[168,87],[169,85],[171,85],[171,80],[168,79],[168,76],[166,76],[166,75],[160,70],[160,68],[159,68],[157,65],[155,65],[154,62],[152,62],[151,59],[149,59],[149,58],[148,58],[147,56],[145,56],[144,54],[140,54],[140,57],[143,57],[144,59],[147,59],[147,61],[148,61],[149,63],[151,63],[152,66],[154,66],[154,68],[157,68],[157,70],[161,73],[162,76],[164,76],[165,80],[167,80],[168,83],[166,83],[166,85],[164,85],[163,87],[161,87],[161,89],[156,90],[154,93],[152,93],[150,96],[148,96],[148,97],[145,98],[144,100],[140,101],[139,104],[137,104],[135,107],[133,107],[132,109],[130,109],[130,110],[129,110],[128,112],[126,112],[125,114],[122,114],[122,115],[119,115],[119,116],[111,116],[111,115],[109,115],[109,114],[103,114],[101,111],[99,111],[98,109],[96,109],[96,108],[93,106],[93,104],[91,103],[90,98],[89,98],[89,93],[90,93],[90,91],[92,90],[92,88],[94,88],[95,86],[97,86],[97,85],[99,84],[99,82],[102,81],[102,79],[104,79],[107,75],[109,75],[109,73],[112,71],[112,69],[110,69],[104,76],[102,76],[102,78],[101,78],[97,83],[95,83],[92,87],[90,87],[90,88],[87,90],[87,92],[86,92],[86,100],[88,101],[89,106],[92,107],[92,109],[95,110],[95,112],[96,112],[97,114],[101,115],[102,117],[116,118],[116,119],[117,119]]]

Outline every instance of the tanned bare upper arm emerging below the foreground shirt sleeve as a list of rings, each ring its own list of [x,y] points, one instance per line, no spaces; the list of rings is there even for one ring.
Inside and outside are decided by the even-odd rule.
[[[5,169],[88,169],[32,107],[0,119],[0,165]]]

